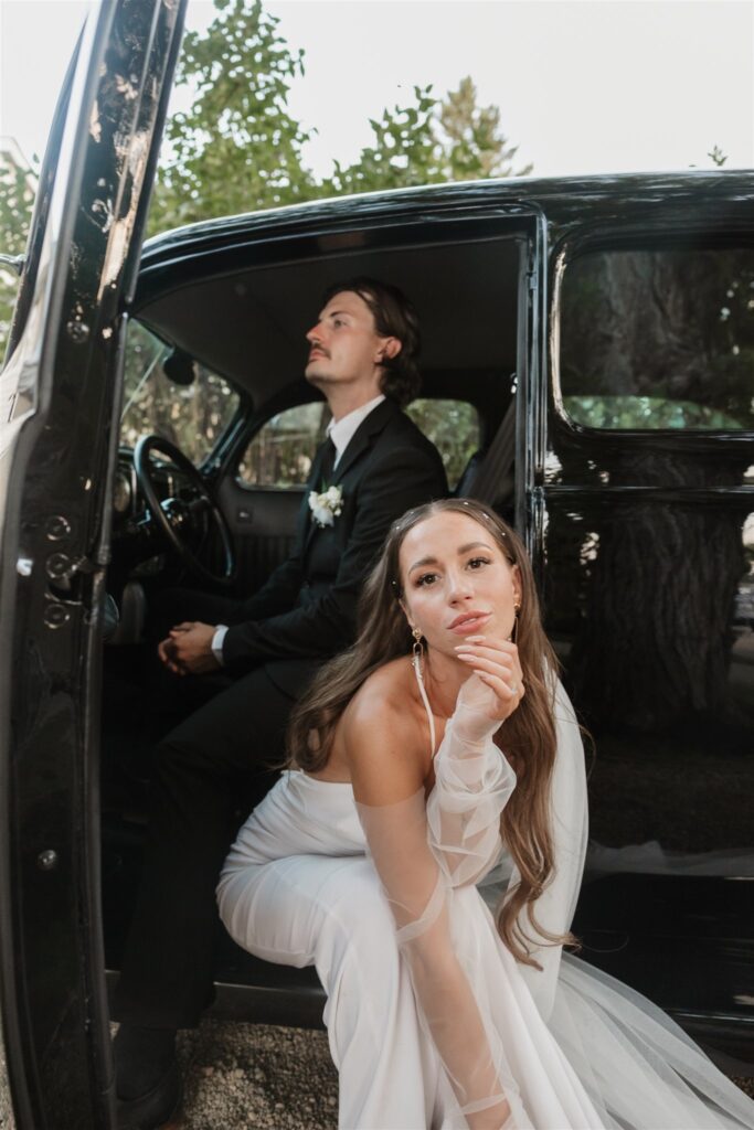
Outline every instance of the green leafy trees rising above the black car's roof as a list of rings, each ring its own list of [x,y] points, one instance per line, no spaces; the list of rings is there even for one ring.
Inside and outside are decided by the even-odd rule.
[[[288,108],[303,52],[261,0],[215,7],[207,32],[184,40],[176,82],[196,94],[167,124],[150,233],[302,200],[513,175],[517,147],[500,130],[500,111],[477,104],[467,77],[444,101],[432,86],[414,87],[406,105],[370,121],[372,142],[353,164],[333,160],[318,182],[303,156],[310,133]]]

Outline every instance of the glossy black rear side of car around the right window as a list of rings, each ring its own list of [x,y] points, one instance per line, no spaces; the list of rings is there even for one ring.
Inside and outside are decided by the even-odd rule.
[[[752,434],[599,432],[569,418],[560,388],[575,257],[751,246],[743,195],[736,177],[729,210],[713,192],[676,199],[671,218],[634,201],[625,225],[561,227],[535,495],[548,631],[595,739],[592,836],[633,860],[631,873],[597,860],[577,916],[584,956],[752,1062]]]

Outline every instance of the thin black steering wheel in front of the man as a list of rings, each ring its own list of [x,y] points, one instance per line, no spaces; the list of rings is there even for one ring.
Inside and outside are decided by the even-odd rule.
[[[154,464],[150,458],[153,451],[159,451],[163,455],[168,457],[182,477],[188,480],[191,489],[196,492],[194,498],[190,501],[166,498],[161,502],[155,489]],[[231,531],[222,510],[191,460],[187,459],[183,452],[170,440],[163,440],[159,435],[144,435],[133,451],[133,469],[147,508],[157,529],[187,568],[199,580],[209,581],[213,584],[231,584],[236,574],[235,550]],[[197,520],[202,520],[206,514],[209,515],[210,523],[218,534],[222,546],[223,564],[218,572],[208,568],[190,548],[187,540],[187,534],[196,528]]]

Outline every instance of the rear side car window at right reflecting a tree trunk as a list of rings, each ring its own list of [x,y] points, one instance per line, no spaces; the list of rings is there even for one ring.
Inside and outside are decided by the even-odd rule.
[[[754,250],[600,251],[566,268],[560,386],[593,428],[754,428]]]

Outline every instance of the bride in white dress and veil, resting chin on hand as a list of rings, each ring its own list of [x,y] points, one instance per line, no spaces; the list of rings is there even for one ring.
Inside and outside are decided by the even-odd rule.
[[[363,610],[218,886],[241,946],[317,966],[339,1127],[754,1127],[667,1016],[562,953],[583,751],[515,533],[470,501],[409,511]],[[503,853],[493,919],[475,884]]]

